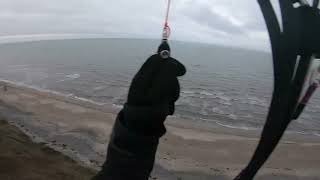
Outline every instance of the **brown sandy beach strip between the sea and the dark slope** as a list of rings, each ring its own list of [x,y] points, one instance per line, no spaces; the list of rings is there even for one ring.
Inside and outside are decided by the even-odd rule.
[[[70,170],[69,173],[82,173],[86,175],[82,176],[84,178],[99,169],[105,159],[118,107],[8,82],[1,82],[0,87],[1,119],[19,128],[19,131],[34,142],[16,143],[12,145],[14,148],[51,148],[54,151],[46,151],[52,155],[50,160],[72,164],[69,168],[75,170]],[[17,129],[3,126],[9,125],[2,122],[0,128],[0,133],[4,136],[2,138],[5,139],[0,141],[4,143],[1,144],[4,147],[1,152],[6,152],[10,141],[6,140],[8,137],[4,134],[16,132]],[[260,135],[259,131],[231,129],[209,122],[178,118],[170,118],[167,127],[168,133],[161,139],[151,179],[231,180],[251,158]],[[22,134],[17,138],[27,139]],[[286,134],[256,179],[320,180],[319,152],[319,137]],[[30,154],[30,158],[41,153],[43,152]],[[62,158],[64,155],[74,161]],[[5,158],[9,158],[9,155],[7,157],[4,153],[0,156],[0,162]],[[11,154],[10,158],[20,157]],[[34,158],[34,161],[41,164],[46,159]],[[81,168],[78,164],[86,168]],[[7,166],[0,164],[0,179],[15,179],[11,177],[15,172],[10,171],[11,168],[3,171],[3,167]],[[52,166],[48,169],[48,174],[42,174],[38,179],[47,179],[46,176],[50,173],[59,171],[59,167],[56,168]],[[29,174],[31,171],[25,173],[25,176],[32,177]]]

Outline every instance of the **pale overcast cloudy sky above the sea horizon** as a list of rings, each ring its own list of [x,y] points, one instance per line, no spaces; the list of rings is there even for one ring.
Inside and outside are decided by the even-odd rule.
[[[0,36],[160,38],[166,0],[0,0]],[[172,0],[172,39],[269,49],[256,0]]]

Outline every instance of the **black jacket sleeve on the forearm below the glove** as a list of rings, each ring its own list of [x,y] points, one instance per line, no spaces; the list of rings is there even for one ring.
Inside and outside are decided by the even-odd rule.
[[[102,170],[92,180],[147,180],[154,164],[158,138],[131,132],[118,115]]]

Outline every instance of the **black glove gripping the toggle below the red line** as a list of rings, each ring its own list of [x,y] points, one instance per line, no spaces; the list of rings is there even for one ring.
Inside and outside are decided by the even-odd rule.
[[[164,135],[163,123],[173,115],[180,94],[177,77],[185,73],[185,67],[174,58],[151,56],[132,80],[122,124],[140,135]]]

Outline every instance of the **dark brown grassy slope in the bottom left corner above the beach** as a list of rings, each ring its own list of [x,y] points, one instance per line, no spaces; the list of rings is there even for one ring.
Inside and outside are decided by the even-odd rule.
[[[95,174],[61,153],[33,143],[3,120],[0,147],[1,180],[87,180]]]

